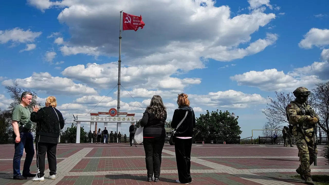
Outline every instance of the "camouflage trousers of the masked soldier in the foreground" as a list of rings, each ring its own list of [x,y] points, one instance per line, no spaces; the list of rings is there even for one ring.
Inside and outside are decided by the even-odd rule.
[[[298,148],[302,173],[305,177],[311,176],[310,166],[314,162],[315,153],[317,153],[317,151],[314,151],[313,138],[310,139],[310,142],[306,142],[305,136],[297,132],[297,135],[294,135],[294,139]]]

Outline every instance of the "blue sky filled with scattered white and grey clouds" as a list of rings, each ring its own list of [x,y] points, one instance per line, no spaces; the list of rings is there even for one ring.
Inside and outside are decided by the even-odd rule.
[[[16,81],[40,101],[55,95],[67,120],[88,113],[117,83],[120,10],[145,22],[122,33],[122,86],[142,107],[162,95],[168,118],[184,92],[197,115],[234,112],[249,137],[266,122],[274,91],[328,81],[328,1],[149,2],[4,1],[0,108],[10,103],[4,86]],[[116,107],[116,90],[109,96],[92,112]],[[127,94],[121,100],[122,112],[143,112]]]

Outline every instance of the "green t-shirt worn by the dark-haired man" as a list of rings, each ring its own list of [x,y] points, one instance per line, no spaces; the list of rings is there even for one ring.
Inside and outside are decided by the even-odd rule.
[[[15,106],[13,110],[12,121],[17,121],[18,126],[24,125],[25,128],[32,128],[31,113],[29,108],[23,107],[21,104]]]

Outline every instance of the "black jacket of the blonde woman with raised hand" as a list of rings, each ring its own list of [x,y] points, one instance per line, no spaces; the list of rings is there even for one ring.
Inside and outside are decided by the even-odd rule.
[[[59,137],[60,130],[64,128],[62,113],[51,105],[32,112],[31,121],[37,123],[36,135],[40,136]]]

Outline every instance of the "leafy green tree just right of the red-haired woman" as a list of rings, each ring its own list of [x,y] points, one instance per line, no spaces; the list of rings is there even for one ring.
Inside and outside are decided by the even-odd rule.
[[[196,119],[196,127],[194,129],[194,136],[203,138],[218,138],[220,141],[233,143],[242,133],[238,125],[239,116],[236,118],[227,118],[230,112],[216,111],[206,114],[200,114]]]

